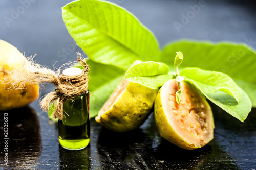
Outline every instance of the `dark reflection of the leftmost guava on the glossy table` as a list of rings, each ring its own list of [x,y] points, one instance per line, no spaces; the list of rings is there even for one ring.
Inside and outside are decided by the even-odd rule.
[[[8,166],[4,162],[4,122],[0,123],[0,167],[6,169],[33,169],[38,164],[42,150],[38,116],[30,107],[1,111],[1,119],[8,113]]]

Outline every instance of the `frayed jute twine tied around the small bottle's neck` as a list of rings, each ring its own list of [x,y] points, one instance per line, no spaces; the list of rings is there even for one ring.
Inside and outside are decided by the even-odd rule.
[[[60,74],[60,68],[55,72],[34,63],[32,60],[33,57],[24,62],[24,69],[10,72],[12,78],[11,89],[24,89],[26,83],[39,85],[51,83],[55,85],[57,87],[56,90],[46,94],[44,99],[40,100],[40,106],[42,110],[47,112],[49,104],[54,102],[56,109],[51,117],[62,120],[64,116],[63,103],[65,100],[72,100],[75,96],[79,96],[88,90],[89,78],[87,74],[89,67],[79,52],[77,52],[77,60],[84,69],[82,74],[77,76]]]

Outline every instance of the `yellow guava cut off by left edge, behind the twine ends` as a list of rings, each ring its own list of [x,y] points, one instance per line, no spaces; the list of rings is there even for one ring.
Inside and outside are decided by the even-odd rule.
[[[25,57],[16,47],[0,40],[0,80],[8,78],[10,76],[9,71],[22,69],[24,60],[26,60]],[[38,85],[27,83],[24,90],[13,90],[10,89],[11,85],[8,81],[7,83],[0,82],[0,110],[24,107],[37,99],[39,95]]]

